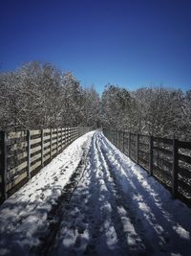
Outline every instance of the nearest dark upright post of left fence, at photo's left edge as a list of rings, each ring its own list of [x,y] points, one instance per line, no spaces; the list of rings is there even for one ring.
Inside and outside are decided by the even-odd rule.
[[[7,148],[7,132],[1,131],[1,144],[0,144],[0,154],[1,154],[1,183],[2,183],[2,200],[8,198],[6,184],[7,184],[7,170],[8,170],[8,148]]]

